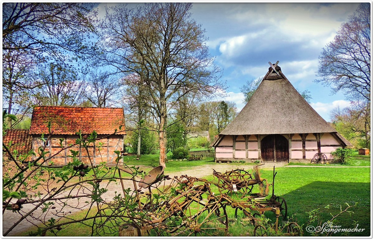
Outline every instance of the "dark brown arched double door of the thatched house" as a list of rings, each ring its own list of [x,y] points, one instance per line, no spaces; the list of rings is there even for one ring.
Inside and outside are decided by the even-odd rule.
[[[282,135],[267,135],[261,140],[261,158],[264,162],[287,162],[288,157],[288,140]]]

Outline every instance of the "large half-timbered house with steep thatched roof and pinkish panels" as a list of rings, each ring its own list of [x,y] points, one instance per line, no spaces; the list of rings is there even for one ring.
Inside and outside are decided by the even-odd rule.
[[[269,63],[270,64],[270,63]],[[271,65],[251,99],[211,144],[216,161],[310,161],[352,146]]]

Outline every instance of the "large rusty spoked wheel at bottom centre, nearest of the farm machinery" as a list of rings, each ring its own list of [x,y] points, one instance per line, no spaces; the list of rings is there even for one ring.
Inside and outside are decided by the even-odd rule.
[[[161,225],[172,237],[227,235],[228,218],[220,197],[203,191],[188,191],[170,204]]]

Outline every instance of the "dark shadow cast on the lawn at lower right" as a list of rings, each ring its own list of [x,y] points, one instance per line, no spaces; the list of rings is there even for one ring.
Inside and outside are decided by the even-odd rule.
[[[320,215],[323,223],[331,219],[330,213],[333,215],[339,213],[340,206],[345,209],[347,206],[345,203],[352,206],[357,202],[357,206],[349,209],[354,214],[342,213],[337,217],[337,223],[334,225],[340,225],[341,228],[355,228],[354,221],[358,221],[358,228],[365,228],[365,230],[352,233],[352,236],[370,236],[370,183],[316,181],[284,194],[282,197],[285,198],[288,206],[288,216],[297,220],[300,225],[307,222],[306,212],[313,209],[323,210],[325,206],[330,205],[330,209]],[[310,234],[304,231],[304,236],[310,236]],[[341,236],[341,233],[333,236]]]

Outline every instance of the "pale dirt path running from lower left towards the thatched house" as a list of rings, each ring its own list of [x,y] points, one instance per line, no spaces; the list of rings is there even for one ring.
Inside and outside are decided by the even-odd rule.
[[[261,168],[272,169],[273,166],[282,167],[284,165],[285,165],[285,163],[266,163],[263,166],[261,166]],[[140,166],[140,168],[141,169],[143,169],[143,168],[149,169],[149,166]],[[243,169],[243,168],[245,170],[251,170],[252,166],[251,165],[243,165],[243,164],[220,163],[220,164],[214,164],[214,165],[196,166],[196,167],[193,167],[191,169],[183,170],[183,171],[180,171],[180,172],[174,172],[174,173],[169,173],[168,169],[166,168],[165,175],[170,175],[170,176],[188,175],[188,176],[194,176],[194,177],[197,177],[197,178],[202,178],[202,177],[205,177],[205,176],[212,175],[212,172],[213,172],[212,169],[213,168],[217,172],[226,172],[226,171],[229,171],[229,170],[232,170],[232,169]],[[166,182],[166,184],[168,184],[168,181]],[[133,182],[130,181],[130,180],[125,180],[124,185],[125,185],[125,188],[134,189]],[[101,186],[104,187],[104,184],[101,184]],[[106,201],[111,201],[113,199],[114,191],[117,191],[117,193],[122,193],[122,187],[121,187],[119,182],[117,184],[114,183],[114,182],[111,182],[111,184],[109,184],[107,186],[107,189],[108,189],[107,193],[104,193],[102,195],[102,198]],[[78,191],[74,190],[71,193],[68,193],[68,192],[61,193],[59,196],[56,196],[56,197],[62,197],[62,196],[67,196],[67,195],[74,196],[77,193],[78,193]],[[82,195],[84,193],[85,193],[84,190],[79,191],[79,195]],[[64,210],[65,213],[67,213],[67,212],[76,213],[80,210],[87,209],[87,208],[89,208],[89,205],[87,203],[85,203],[85,201],[88,201],[88,200],[90,200],[90,199],[87,199],[87,198],[81,198],[79,200],[78,199],[70,199],[70,200],[68,200],[68,204],[70,206],[65,206],[63,210]],[[14,203],[15,201],[16,200],[14,200],[12,202]],[[35,206],[36,205],[33,205],[33,204],[25,204],[25,206],[22,208],[22,211],[20,211],[20,212],[23,212],[23,214],[25,214],[25,213],[29,212],[31,209],[33,209]],[[13,228],[13,230],[7,236],[14,236],[17,233],[24,232],[25,230],[34,226],[35,224],[40,224],[40,221],[37,221],[34,218],[45,219],[45,221],[52,218],[52,217],[55,218],[55,219],[58,219],[59,217],[56,216],[56,213],[60,212],[61,206],[59,206],[58,204],[55,204],[54,206],[56,207],[55,209],[53,209],[53,210],[50,209],[49,211],[47,211],[45,213],[43,213],[42,208],[39,207],[39,209],[34,211],[33,216],[28,216],[26,219],[24,219],[22,222],[20,222],[15,228]],[[16,221],[18,221],[20,218],[21,218],[21,216],[20,216],[19,213],[17,213],[17,212],[13,213],[10,210],[6,210],[3,214],[3,234],[10,227],[12,227],[12,225]]]

